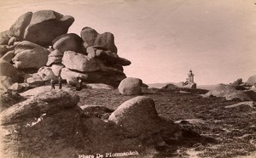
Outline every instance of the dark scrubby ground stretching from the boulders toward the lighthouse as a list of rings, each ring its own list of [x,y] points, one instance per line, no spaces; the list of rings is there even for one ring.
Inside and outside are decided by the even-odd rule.
[[[41,90],[49,87],[41,87]],[[64,86],[79,95],[79,106],[102,105],[116,110],[136,96],[124,96],[117,89]],[[27,91],[29,92],[29,91]],[[22,93],[21,93],[22,94]],[[34,93],[33,93],[34,94]],[[26,97],[29,93],[23,93]],[[158,114],[175,121],[184,129],[184,138],[143,150],[145,157],[253,157],[256,151],[256,108],[253,102],[227,101],[224,98],[202,98],[198,93],[143,88],[143,96],[154,99]],[[111,134],[108,136],[112,136]],[[107,136],[107,137],[108,137]],[[139,138],[138,138],[139,139]],[[109,144],[113,138],[103,139]],[[131,140],[130,140],[131,141]],[[131,143],[134,142],[134,143]],[[134,139],[129,144],[137,144]],[[127,148],[128,147],[128,148]],[[97,148],[97,147],[96,147]],[[129,145],[124,148],[129,150]],[[131,150],[136,150],[135,148]],[[132,156],[131,156],[132,157]],[[140,157],[140,156],[138,156]]]

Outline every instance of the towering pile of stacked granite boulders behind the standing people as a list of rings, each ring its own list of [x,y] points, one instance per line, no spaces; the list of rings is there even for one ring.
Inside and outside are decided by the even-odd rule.
[[[25,77],[31,84],[57,76],[73,84],[80,76],[84,82],[117,87],[126,77],[123,66],[131,61],[119,57],[110,32],[99,34],[84,27],[80,36],[67,33],[73,21],[72,16],[53,10],[22,14],[8,31],[0,33],[0,58],[18,71],[37,72]]]

